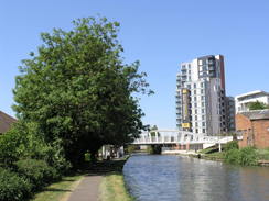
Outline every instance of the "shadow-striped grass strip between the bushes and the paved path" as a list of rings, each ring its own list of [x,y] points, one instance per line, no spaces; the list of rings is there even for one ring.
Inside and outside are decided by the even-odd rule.
[[[84,175],[64,177],[34,196],[31,201],[66,201],[68,194],[76,188]]]

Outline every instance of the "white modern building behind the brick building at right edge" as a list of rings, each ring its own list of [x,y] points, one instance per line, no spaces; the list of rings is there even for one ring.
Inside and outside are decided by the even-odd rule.
[[[235,97],[236,101],[236,113],[249,111],[249,103],[251,102],[262,102],[269,104],[269,93],[265,91],[251,91],[248,93],[239,94]]]

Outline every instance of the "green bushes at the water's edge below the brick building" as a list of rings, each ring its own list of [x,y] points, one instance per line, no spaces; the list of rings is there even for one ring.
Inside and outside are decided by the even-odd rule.
[[[254,147],[229,149],[225,153],[225,161],[236,165],[255,166],[258,164],[257,150]]]

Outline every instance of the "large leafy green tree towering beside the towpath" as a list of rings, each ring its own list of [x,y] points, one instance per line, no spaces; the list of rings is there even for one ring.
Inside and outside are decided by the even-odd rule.
[[[150,93],[139,63],[123,63],[119,23],[79,19],[71,31],[42,33],[43,44],[20,67],[14,110],[35,122],[47,143],[60,142],[73,165],[101,145],[122,145],[144,126],[138,92]]]

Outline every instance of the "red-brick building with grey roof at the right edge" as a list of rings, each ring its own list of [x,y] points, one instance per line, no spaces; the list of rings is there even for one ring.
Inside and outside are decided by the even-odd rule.
[[[239,147],[269,147],[269,110],[255,110],[236,114],[236,131],[243,134]]]

